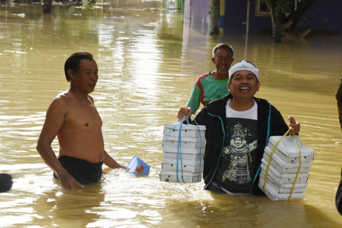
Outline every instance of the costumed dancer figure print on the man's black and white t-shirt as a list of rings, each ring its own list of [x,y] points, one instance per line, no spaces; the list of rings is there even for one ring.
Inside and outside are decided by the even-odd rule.
[[[248,189],[257,148],[257,120],[227,118],[226,139],[217,179],[228,190]],[[234,184],[235,183],[235,184]],[[236,186],[239,184],[239,186]]]

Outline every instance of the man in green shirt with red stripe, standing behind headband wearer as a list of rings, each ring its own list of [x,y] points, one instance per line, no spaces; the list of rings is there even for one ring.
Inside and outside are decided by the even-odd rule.
[[[211,61],[215,64],[216,70],[210,71],[196,80],[191,91],[190,98],[185,107],[178,111],[177,118],[183,119],[184,114],[189,117],[191,113],[195,114],[200,103],[203,106],[211,100],[216,100],[227,95],[229,81],[229,68],[234,62],[234,51],[231,45],[220,43],[213,48],[213,57]]]

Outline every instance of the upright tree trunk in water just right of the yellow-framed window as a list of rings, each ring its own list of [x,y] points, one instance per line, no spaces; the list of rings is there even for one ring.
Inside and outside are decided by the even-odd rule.
[[[275,0],[265,0],[269,11],[271,12],[272,16],[272,36],[273,41],[275,43],[281,43],[281,33],[282,33],[282,13],[276,12],[275,7]]]

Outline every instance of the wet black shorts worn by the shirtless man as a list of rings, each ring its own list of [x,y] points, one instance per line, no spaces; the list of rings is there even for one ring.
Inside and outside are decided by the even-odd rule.
[[[91,163],[69,156],[61,156],[58,161],[80,184],[97,183],[102,176],[103,162]],[[55,172],[53,172],[53,176],[58,178]]]

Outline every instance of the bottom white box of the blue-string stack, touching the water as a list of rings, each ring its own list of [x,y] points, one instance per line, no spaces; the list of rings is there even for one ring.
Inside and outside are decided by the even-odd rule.
[[[160,170],[159,178],[160,178],[160,181],[177,182],[177,172]],[[184,183],[201,182],[202,174],[192,173],[192,172],[183,172],[183,178],[182,178],[182,172],[178,172],[178,182],[183,182],[183,181]]]

